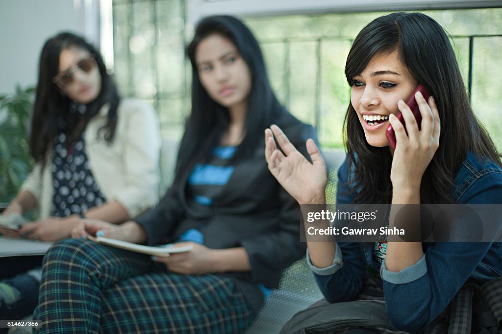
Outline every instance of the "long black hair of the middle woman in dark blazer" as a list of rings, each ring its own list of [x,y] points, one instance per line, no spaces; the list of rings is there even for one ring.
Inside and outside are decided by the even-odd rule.
[[[253,151],[261,143],[263,131],[270,125],[272,115],[285,110],[272,92],[263,54],[253,33],[241,21],[231,16],[202,19],[197,24],[195,36],[187,48],[192,64],[192,110],[180,143],[176,175],[188,170],[194,161],[207,158],[210,148],[219,143],[230,122],[228,109],[212,100],[202,86],[195,62],[197,46],[213,34],[221,35],[235,45],[252,75],[252,89],[247,99],[244,123],[245,135],[234,159]]]

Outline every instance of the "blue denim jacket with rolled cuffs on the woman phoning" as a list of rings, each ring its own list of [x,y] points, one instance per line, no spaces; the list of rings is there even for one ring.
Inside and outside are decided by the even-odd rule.
[[[351,203],[347,196],[347,160],[338,171],[337,203]],[[452,196],[459,204],[502,203],[502,170],[493,161],[468,152],[455,177]],[[502,227],[502,220],[500,221]],[[326,268],[307,260],[317,283],[330,302],[352,300],[362,288],[367,268],[380,271],[387,313],[391,323],[406,331],[429,325],[449,304],[462,285],[478,284],[502,276],[501,242],[422,243],[423,257],[400,272],[388,271],[373,260],[373,243],[339,242],[333,264]]]

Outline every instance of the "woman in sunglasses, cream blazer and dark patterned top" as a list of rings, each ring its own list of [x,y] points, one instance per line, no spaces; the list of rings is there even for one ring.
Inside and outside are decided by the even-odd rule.
[[[2,229],[6,236],[56,241],[82,218],[119,224],[158,201],[156,113],[121,99],[99,53],[78,36],[61,33],[42,49],[29,145],[35,168],[3,215],[38,209],[39,217]],[[38,302],[41,269],[32,268],[41,257],[3,261],[1,278],[10,278],[0,283],[0,318],[20,319]]]

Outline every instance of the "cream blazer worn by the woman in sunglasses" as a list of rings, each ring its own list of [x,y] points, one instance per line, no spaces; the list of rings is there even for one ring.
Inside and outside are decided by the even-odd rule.
[[[85,149],[90,170],[107,202],[118,201],[134,218],[159,201],[159,121],[155,110],[146,103],[121,99],[117,107],[117,125],[113,141],[108,143],[98,130],[106,124],[108,106],[87,124]],[[21,186],[33,194],[40,218],[51,215],[53,201],[52,149],[42,169],[36,163]]]

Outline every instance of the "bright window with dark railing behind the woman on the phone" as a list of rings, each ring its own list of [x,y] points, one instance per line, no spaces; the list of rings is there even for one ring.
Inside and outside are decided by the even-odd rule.
[[[344,67],[357,33],[390,12],[248,18],[279,99],[315,124],[324,146],[342,147],[350,90]],[[502,152],[502,9],[425,11],[452,36],[474,110]],[[472,53],[471,53],[472,51]]]

